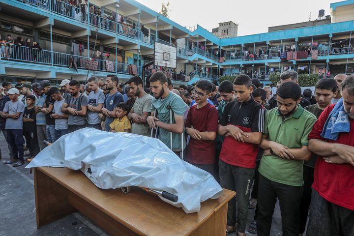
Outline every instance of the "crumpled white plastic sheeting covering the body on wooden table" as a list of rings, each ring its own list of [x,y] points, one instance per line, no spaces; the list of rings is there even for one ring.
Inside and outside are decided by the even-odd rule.
[[[214,177],[179,159],[160,140],[129,133],[85,128],[64,135],[26,168],[44,166],[81,169],[99,188],[139,186],[166,191],[177,195],[178,201],[160,198],[186,213],[198,212],[201,202],[223,192]]]

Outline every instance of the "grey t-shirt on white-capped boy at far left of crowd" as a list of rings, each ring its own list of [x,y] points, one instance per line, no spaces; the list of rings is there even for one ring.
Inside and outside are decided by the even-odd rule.
[[[17,112],[21,112],[21,115],[18,119],[6,118],[5,129],[23,129],[23,113],[25,111],[25,105],[22,101],[17,100],[17,102],[8,101],[5,103],[5,107],[3,112],[7,112],[8,114],[16,114]]]

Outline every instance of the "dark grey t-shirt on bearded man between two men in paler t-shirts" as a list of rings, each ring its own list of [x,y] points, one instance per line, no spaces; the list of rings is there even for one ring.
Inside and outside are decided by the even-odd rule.
[[[78,111],[81,111],[81,107],[87,107],[87,97],[80,95],[75,98],[71,94],[68,94],[65,98],[65,103],[68,104],[68,107],[74,108]],[[68,113],[68,124],[69,125],[84,125],[86,124],[86,116],[74,116]]]

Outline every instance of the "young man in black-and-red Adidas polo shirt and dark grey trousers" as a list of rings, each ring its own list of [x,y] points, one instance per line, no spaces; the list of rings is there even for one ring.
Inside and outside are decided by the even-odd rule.
[[[258,144],[262,139],[264,108],[253,100],[251,79],[239,75],[234,81],[236,101],[227,103],[219,121],[224,135],[219,156],[221,186],[237,194],[237,235],[245,236],[248,200],[255,175]],[[236,231],[236,200],[229,202],[227,230]]]

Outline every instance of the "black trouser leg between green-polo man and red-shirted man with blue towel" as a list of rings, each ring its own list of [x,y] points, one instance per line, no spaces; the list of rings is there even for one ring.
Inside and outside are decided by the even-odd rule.
[[[315,168],[309,166],[303,166],[303,179],[304,179],[304,191],[300,202],[300,231],[299,234],[303,234],[306,228],[308,210],[311,204],[311,186],[313,183],[313,174]]]

